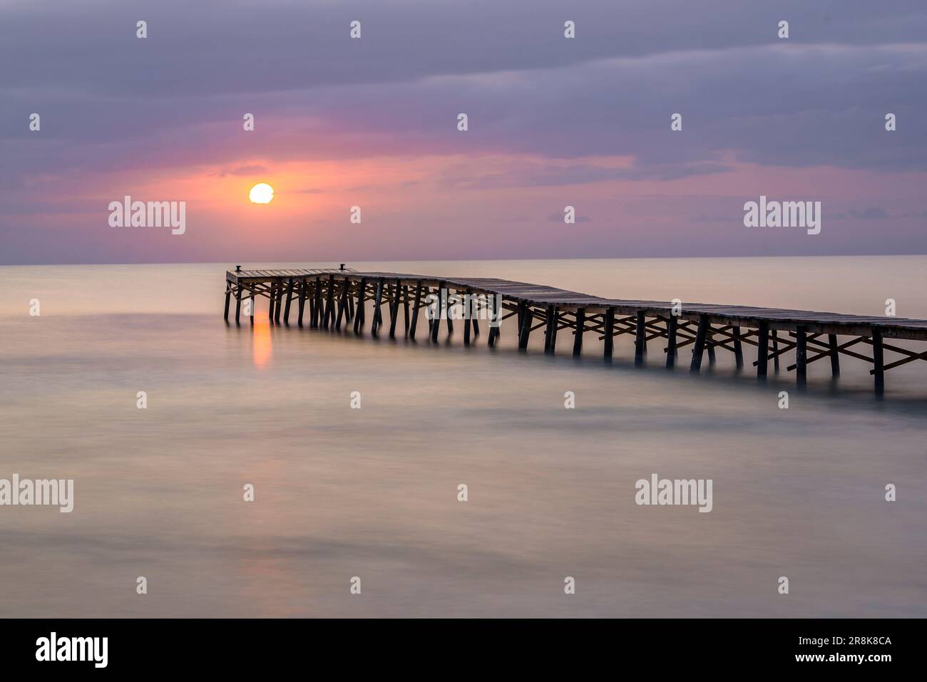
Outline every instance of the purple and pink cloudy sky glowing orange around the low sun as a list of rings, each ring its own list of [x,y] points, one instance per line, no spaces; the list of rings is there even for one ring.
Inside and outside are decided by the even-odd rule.
[[[925,131],[924,0],[0,0],[0,263],[927,253]]]

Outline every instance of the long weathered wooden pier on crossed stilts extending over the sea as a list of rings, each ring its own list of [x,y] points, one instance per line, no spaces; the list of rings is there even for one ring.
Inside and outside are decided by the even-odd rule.
[[[692,347],[690,368],[698,372],[703,357],[714,363],[717,350],[730,351],[737,367],[743,367],[743,347],[756,347],[758,377],[766,376],[771,360],[778,371],[780,360],[788,355],[787,365],[796,381],[806,381],[807,366],[817,360],[830,360],[834,376],[840,373],[840,356],[871,363],[876,393],[882,394],[885,372],[915,360],[927,360],[927,350],[918,352],[886,343],[886,339],[927,341],[927,320],[893,317],[867,317],[835,312],[722,306],[705,303],[682,303],[674,309],[672,302],[620,300],[578,294],[542,284],[527,284],[491,278],[438,278],[397,272],[356,272],[345,269],[322,270],[241,270],[226,272],[225,320],[235,300],[235,323],[240,323],[242,300],[249,298],[250,322],[254,323],[256,297],[270,301],[272,323],[289,324],[293,304],[297,323],[303,326],[309,313],[309,326],[340,329],[351,325],[360,334],[370,312],[370,328],[378,334],[388,316],[388,334],[397,334],[402,309],[401,333],[414,339],[420,312],[442,296],[467,297],[473,301],[472,312],[464,319],[453,310],[460,305],[440,306],[439,312],[426,315],[428,336],[438,341],[442,324],[453,333],[454,322],[464,325],[464,344],[470,345],[479,335],[479,322],[486,322],[488,344],[495,346],[502,321],[516,317],[518,347],[526,349],[530,335],[543,330],[544,350],[556,351],[558,333],[569,329],[571,352],[580,355],[584,335],[596,335],[603,341],[603,354],[611,359],[615,337],[633,335],[635,362],[642,364],[648,343],[662,339],[667,367],[679,360],[679,349]],[[430,296],[430,298],[429,298]],[[386,316],[384,314],[384,307]],[[432,305],[432,309],[434,306]],[[434,318],[432,320],[431,318]],[[495,323],[490,323],[490,321]],[[853,349],[851,349],[853,348]],[[869,349],[869,353],[857,352]],[[794,351],[794,354],[793,354]],[[885,353],[897,358],[885,361]]]

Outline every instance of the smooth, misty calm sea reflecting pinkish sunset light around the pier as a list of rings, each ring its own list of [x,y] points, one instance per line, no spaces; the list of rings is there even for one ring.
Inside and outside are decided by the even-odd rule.
[[[627,335],[610,366],[592,335],[520,354],[512,321],[495,349],[272,328],[264,302],[236,328],[230,265],[0,268],[0,478],[75,481],[71,513],[0,507],[0,616],[927,615],[927,363],[880,401],[854,360],[799,391],[725,351],[635,368]],[[349,267],[927,318],[927,257]],[[638,506],[651,474],[712,479],[713,511]]]

